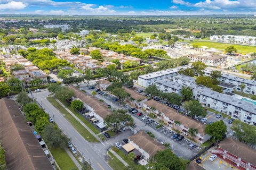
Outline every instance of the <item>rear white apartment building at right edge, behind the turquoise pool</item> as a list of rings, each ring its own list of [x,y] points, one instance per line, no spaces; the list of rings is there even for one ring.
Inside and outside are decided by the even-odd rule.
[[[205,70],[204,72],[205,75],[210,75],[212,70]],[[219,81],[235,85],[237,91],[241,91],[240,85],[244,83],[246,87],[243,89],[243,92],[246,94],[256,95],[256,80],[249,80],[236,77],[235,75],[221,73]]]

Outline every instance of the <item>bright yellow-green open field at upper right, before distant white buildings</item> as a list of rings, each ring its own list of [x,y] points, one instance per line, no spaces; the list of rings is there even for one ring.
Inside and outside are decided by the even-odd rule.
[[[215,48],[215,49],[222,49],[225,50],[226,47],[232,45],[236,47],[239,53],[252,53],[256,52],[256,47],[255,46],[244,46],[244,45],[236,45],[236,44],[225,44],[225,43],[215,43],[215,42],[210,42],[210,41],[198,41],[198,42],[193,42],[190,44],[197,44],[199,47],[206,46],[208,48]]]

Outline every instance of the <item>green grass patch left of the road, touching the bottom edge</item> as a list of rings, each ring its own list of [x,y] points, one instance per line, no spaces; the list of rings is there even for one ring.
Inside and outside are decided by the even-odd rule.
[[[73,162],[73,160],[69,157],[69,155],[63,148],[51,148],[50,151],[57,164],[60,166],[61,170],[70,170],[73,168],[77,168],[76,164]]]

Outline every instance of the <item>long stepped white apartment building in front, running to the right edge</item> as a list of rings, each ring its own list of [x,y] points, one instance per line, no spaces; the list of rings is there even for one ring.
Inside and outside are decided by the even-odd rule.
[[[191,87],[193,89],[193,98],[205,107],[225,113],[247,124],[256,125],[256,105],[226,94],[221,94],[203,86],[198,86],[193,82],[195,81],[194,78],[185,75],[178,75],[173,81],[183,86]]]

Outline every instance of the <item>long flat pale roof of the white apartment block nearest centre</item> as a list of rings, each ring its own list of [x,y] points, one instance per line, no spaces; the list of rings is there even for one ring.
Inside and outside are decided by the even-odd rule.
[[[157,71],[157,72],[153,72],[153,73],[148,73],[148,74],[143,74],[143,75],[139,75],[139,78],[145,79],[145,80],[149,80],[149,79],[154,79],[157,77],[161,77],[163,75],[168,75],[168,74],[172,74],[175,72],[178,72],[180,69],[186,69],[187,67],[189,67],[188,65],[185,66],[181,66],[181,67],[176,67],[173,69],[166,69],[166,70],[161,70],[161,71]]]

